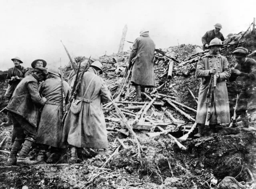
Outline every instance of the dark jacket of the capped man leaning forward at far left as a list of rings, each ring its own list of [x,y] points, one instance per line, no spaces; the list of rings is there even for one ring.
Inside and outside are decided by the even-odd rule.
[[[38,80],[29,75],[23,78],[13,92],[7,110],[22,116],[36,127],[38,110],[44,101],[38,92]]]

